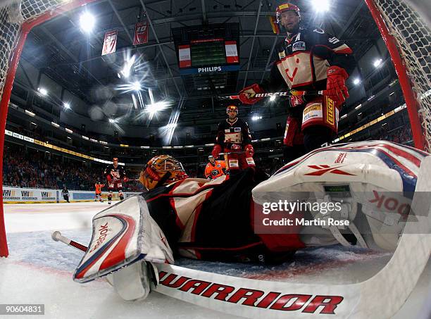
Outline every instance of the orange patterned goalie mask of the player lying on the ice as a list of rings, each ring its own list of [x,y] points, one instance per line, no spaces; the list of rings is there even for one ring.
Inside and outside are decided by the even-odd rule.
[[[150,190],[187,177],[180,161],[169,155],[157,155],[146,163],[139,176],[139,182]]]

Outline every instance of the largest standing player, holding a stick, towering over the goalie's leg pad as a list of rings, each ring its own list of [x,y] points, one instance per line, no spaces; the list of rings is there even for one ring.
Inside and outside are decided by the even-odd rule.
[[[352,65],[352,51],[341,40],[320,28],[303,29],[301,13],[293,4],[276,9],[277,25],[287,37],[277,46],[278,58],[270,77],[261,85],[251,85],[239,92],[244,104],[254,104],[256,93],[286,89],[322,90],[324,96],[291,96],[284,144],[289,160],[330,142],[338,130],[339,111],[349,97],[345,85]]]

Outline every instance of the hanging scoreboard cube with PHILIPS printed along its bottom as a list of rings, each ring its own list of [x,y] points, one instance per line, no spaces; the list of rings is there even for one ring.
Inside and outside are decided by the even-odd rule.
[[[238,23],[179,27],[172,31],[181,75],[239,70]]]

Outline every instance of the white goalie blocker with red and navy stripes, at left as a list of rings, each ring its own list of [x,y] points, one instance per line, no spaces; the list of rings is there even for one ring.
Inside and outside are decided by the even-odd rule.
[[[174,261],[165,235],[137,195],[94,216],[92,240],[73,280],[88,282],[139,260]]]

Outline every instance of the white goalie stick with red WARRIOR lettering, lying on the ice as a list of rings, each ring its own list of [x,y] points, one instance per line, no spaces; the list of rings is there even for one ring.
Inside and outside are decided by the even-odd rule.
[[[431,156],[422,161],[416,193],[428,192]],[[392,258],[377,274],[351,284],[304,284],[252,280],[157,264],[154,291],[192,304],[246,318],[391,318],[405,303],[427,265],[431,251],[431,198],[413,197]],[[54,236],[53,236],[54,237]],[[68,244],[69,239],[66,240]],[[62,241],[63,242],[63,241]]]

